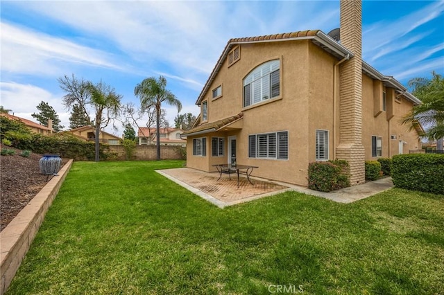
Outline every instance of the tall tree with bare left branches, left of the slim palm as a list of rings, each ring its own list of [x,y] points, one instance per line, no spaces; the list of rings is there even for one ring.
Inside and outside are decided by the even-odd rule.
[[[59,78],[58,82],[60,88],[66,93],[63,97],[65,107],[71,108],[77,104],[85,111],[87,118],[91,118],[89,109],[94,112],[94,120],[89,121],[95,133],[95,160],[99,161],[100,130],[108,126],[110,122],[114,122],[114,119],[119,116],[122,97],[114,88],[103,82],[93,84],[83,79],[78,80],[74,74],[71,77],[65,75]]]

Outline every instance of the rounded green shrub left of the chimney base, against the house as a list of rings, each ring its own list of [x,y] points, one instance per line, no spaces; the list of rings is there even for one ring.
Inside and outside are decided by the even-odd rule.
[[[330,192],[350,186],[350,167],[347,161],[318,161],[309,163],[308,187]]]

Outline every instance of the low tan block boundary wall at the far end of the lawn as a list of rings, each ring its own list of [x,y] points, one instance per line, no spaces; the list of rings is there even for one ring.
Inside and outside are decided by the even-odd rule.
[[[160,159],[182,160],[186,147],[175,145],[160,145]],[[126,160],[126,152],[123,145],[108,145],[112,159],[117,161]],[[131,160],[155,160],[157,158],[157,147],[155,145],[136,145]]]

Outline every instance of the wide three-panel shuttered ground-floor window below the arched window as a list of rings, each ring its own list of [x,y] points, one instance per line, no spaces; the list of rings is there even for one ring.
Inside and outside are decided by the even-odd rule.
[[[248,136],[248,157],[289,159],[289,132],[272,132]]]

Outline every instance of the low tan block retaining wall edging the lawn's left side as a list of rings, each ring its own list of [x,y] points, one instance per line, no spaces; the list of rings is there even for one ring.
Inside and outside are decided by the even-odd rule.
[[[40,190],[31,202],[6,226],[0,233],[0,295],[8,289],[12,278],[37,231],[44,220],[44,215],[56,197],[62,186],[73,160],[69,160],[58,172],[58,177],[53,177],[42,190]]]

